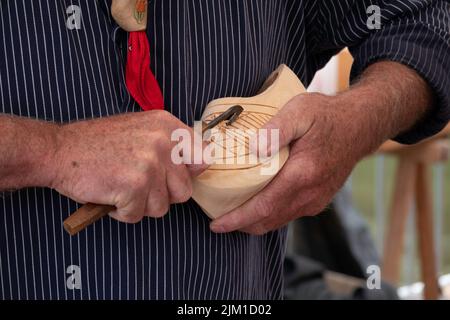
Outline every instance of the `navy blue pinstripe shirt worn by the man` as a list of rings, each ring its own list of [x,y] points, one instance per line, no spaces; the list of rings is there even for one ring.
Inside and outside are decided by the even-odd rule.
[[[381,29],[366,9],[381,7]],[[81,9],[68,29],[67,8]],[[124,86],[126,33],[108,1],[0,0],[0,107],[4,114],[70,122],[138,111]],[[213,98],[255,94],[280,63],[308,84],[344,46],[356,63],[389,59],[435,89],[432,114],[399,139],[439,130],[450,108],[450,4],[437,0],[152,0],[152,67],[168,109],[188,124]],[[217,235],[193,202],[136,225],[109,218],[76,237],[62,221],[77,208],[49,189],[0,199],[3,299],[281,298],[285,230]],[[70,289],[70,265],[81,288]]]

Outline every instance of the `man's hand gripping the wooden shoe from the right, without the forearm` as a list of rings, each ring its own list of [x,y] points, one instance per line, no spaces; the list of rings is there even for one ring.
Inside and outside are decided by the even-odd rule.
[[[212,231],[261,235],[324,209],[363,156],[354,125],[362,117],[352,110],[321,94],[286,104],[264,128],[279,129],[280,149],[290,145],[289,159],[263,191],[213,221]]]

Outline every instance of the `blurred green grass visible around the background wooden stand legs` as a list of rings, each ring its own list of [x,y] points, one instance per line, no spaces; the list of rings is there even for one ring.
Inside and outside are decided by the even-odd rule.
[[[360,211],[360,213],[366,218],[370,226],[372,235],[375,238],[377,234],[376,226],[376,213],[375,213],[375,162],[376,160],[372,157],[367,160],[362,161],[355,168],[352,175],[352,192],[353,200],[355,206]],[[384,221],[387,222],[387,212],[389,211],[391,205],[391,195],[393,180],[396,172],[396,161],[391,157],[384,157],[384,170],[383,170],[383,195],[382,195],[382,207],[384,208]],[[444,168],[444,212],[443,212],[443,224],[441,226],[443,230],[442,235],[442,250],[441,250],[441,263],[440,263],[440,273],[450,273],[450,163],[445,165]],[[415,221],[412,221],[415,223]],[[412,227],[412,228],[411,228]],[[401,282],[411,282],[418,281],[420,278],[419,272],[420,267],[417,260],[416,254],[416,235],[415,226],[410,225],[407,231],[405,239],[405,257],[402,264],[402,279]],[[386,227],[384,228],[386,232]],[[406,255],[406,252],[412,252],[411,255]]]

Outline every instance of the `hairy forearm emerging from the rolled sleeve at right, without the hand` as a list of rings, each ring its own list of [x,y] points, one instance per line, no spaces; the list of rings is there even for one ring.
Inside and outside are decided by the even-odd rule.
[[[357,132],[355,145],[365,155],[424,119],[433,105],[433,92],[414,70],[396,62],[379,62],[336,100],[351,122],[349,128]]]

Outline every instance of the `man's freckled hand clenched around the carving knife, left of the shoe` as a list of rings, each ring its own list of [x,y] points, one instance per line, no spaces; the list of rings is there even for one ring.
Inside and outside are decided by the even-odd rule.
[[[193,130],[166,111],[129,113],[60,127],[51,187],[80,203],[113,205],[110,215],[135,223],[161,217],[192,195],[191,178],[206,166],[176,165],[171,134]],[[192,143],[193,145],[193,143]]]

